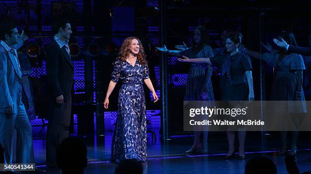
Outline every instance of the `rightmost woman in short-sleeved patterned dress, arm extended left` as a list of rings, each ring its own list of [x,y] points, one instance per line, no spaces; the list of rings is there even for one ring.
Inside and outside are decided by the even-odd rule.
[[[290,45],[297,46],[294,34],[289,31],[283,31],[279,33],[279,40],[286,40]],[[275,68],[275,75],[273,78],[272,90],[271,90],[271,101],[302,101],[299,102],[302,106],[292,107],[288,105],[287,113],[305,113],[306,105],[302,89],[302,72],[305,69],[303,58],[301,55],[295,53],[288,53],[285,49],[281,51],[274,51],[271,53],[260,54],[254,51],[244,49],[245,53],[262,59],[267,64]],[[293,103],[293,102],[290,102]],[[293,118],[295,124],[299,125],[299,119],[296,116]],[[298,126],[299,127],[299,126]],[[282,147],[279,154],[285,154],[287,152],[287,132],[281,132]],[[296,142],[298,139],[298,131],[292,132],[292,145],[291,155],[296,154]]]

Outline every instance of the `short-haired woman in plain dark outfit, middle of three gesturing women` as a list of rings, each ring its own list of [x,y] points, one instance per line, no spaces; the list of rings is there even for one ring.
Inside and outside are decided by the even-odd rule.
[[[221,100],[222,101],[252,101],[254,100],[252,63],[250,58],[238,47],[241,44],[239,32],[229,32],[226,36],[228,55],[211,58],[178,59],[181,62],[208,63],[221,69]],[[244,158],[245,127],[239,127],[239,158]],[[227,131],[229,150],[226,158],[234,156],[235,132]]]

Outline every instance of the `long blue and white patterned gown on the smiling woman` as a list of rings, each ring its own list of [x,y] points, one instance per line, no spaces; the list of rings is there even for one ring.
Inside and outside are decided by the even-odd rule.
[[[149,78],[147,65],[137,60],[133,67],[127,61],[115,61],[111,80],[122,81],[118,97],[118,114],[111,147],[111,161],[147,159],[146,108],[143,80]]]

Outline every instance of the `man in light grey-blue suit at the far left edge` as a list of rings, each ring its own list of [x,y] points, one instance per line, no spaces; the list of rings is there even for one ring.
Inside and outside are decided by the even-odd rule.
[[[0,23],[0,143],[4,147],[4,163],[12,163],[12,140],[15,128],[17,140],[16,163],[35,163],[32,125],[21,102],[21,70],[17,49],[23,45],[24,33],[19,35],[11,20]]]

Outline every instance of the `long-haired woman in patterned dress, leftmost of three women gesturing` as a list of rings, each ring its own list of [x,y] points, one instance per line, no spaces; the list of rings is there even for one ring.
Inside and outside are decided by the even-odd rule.
[[[212,49],[209,47],[209,37],[205,27],[197,26],[193,33],[193,46],[182,51],[168,50],[165,46],[157,48],[159,51],[166,52],[174,56],[187,56],[191,58],[213,57]],[[188,73],[188,80],[184,94],[184,101],[214,101],[213,86],[210,80],[212,67],[207,64],[191,64]],[[199,128],[198,128],[199,129]],[[193,146],[186,153],[208,152],[208,128],[203,131],[203,148],[200,143],[200,131],[195,131]]]

